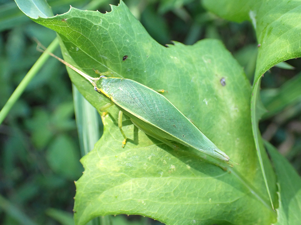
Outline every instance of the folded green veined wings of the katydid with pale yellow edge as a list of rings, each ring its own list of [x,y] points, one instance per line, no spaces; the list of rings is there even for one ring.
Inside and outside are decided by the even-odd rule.
[[[110,99],[145,133],[159,134],[163,139],[182,143],[214,158],[229,160],[168,99],[151,88],[122,79]]]

